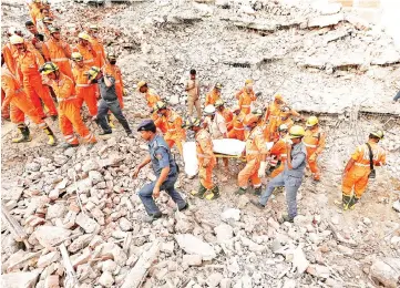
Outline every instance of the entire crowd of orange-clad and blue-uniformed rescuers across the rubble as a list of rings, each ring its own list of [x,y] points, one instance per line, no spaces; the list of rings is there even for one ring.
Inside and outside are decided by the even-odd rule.
[[[121,123],[129,137],[133,137],[129,122],[123,114],[125,95],[122,73],[116,65],[116,54],[105,53],[99,38],[99,27],[90,25],[88,31],[78,34],[78,43],[70,45],[62,37],[60,28],[54,25],[54,16],[47,0],[33,0],[29,4],[31,21],[25,23],[30,38],[23,38],[22,31],[10,29],[8,43],[2,48],[2,116],[10,116],[17,124],[20,136],[14,143],[31,141],[24,115],[43,128],[49,144],[57,140],[45,122],[50,116],[59,119],[64,136],[64,147],[79,145],[78,133],[83,142],[94,144],[96,137],[82,119],[83,103],[94,121],[102,128],[99,135],[112,133],[113,123],[110,112]],[[228,171],[228,155],[215,155],[213,140],[236,138],[246,142],[243,158],[246,164],[237,177],[237,194],[245,194],[249,184],[259,195],[253,202],[263,208],[275,187],[285,186],[288,215],[293,220],[297,215],[297,191],[301,185],[306,166],[312,173],[314,181],[320,181],[319,155],[324,152],[326,134],[316,116],[306,121],[306,128],[295,124],[305,119],[276,94],[271,103],[264,109],[253,109],[259,94],[254,92],[254,81],[246,80],[235,97],[237,105],[227,107],[222,99],[223,85],[216,83],[205,96],[202,111],[201,85],[196,71],[191,70],[185,86],[187,93],[187,114],[184,119],[145,81],[136,89],[144,94],[152,120],[143,122],[139,131],[148,142],[150,155],[134,169],[134,176],[147,163],[152,162],[157,179],[143,187],[140,196],[151,219],[161,217],[153,197],[165,189],[177,203],[178,209],[187,207],[175,191],[178,166],[171,156],[176,146],[183,156],[186,131],[195,133],[196,155],[198,160],[199,188],[194,196],[215,199],[219,188],[213,181],[217,158],[222,157]],[[193,116],[195,109],[196,116]],[[8,115],[9,114],[9,115]],[[75,132],[75,133],[74,133]],[[373,166],[384,164],[386,152],[378,146],[383,132],[369,135],[368,143],[359,146],[351,155],[343,173],[342,207],[352,208],[366,191],[368,178],[373,176]],[[267,142],[274,145],[267,150]],[[218,156],[218,157],[217,157]],[[268,174],[271,178],[267,189],[261,193],[261,178]]]

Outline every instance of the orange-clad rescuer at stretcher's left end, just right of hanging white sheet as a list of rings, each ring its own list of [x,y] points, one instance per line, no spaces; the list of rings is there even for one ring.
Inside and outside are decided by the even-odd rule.
[[[208,200],[216,199],[219,197],[219,188],[213,182],[216,158],[213,152],[212,136],[207,130],[202,127],[201,121],[196,117],[188,119],[184,126],[195,132],[196,140],[199,187],[193,195]]]

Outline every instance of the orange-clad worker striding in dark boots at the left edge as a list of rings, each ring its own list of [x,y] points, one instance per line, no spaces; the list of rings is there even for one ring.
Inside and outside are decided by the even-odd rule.
[[[11,122],[17,124],[21,136],[13,138],[13,143],[29,142],[31,135],[29,127],[24,123],[24,115],[28,115],[34,124],[41,127],[49,136],[49,145],[55,144],[55,137],[49,125],[40,117],[35,111],[31,100],[23,91],[20,82],[7,66],[3,65],[4,59],[1,54],[1,91],[4,91],[4,100],[2,101],[2,111],[10,105]]]

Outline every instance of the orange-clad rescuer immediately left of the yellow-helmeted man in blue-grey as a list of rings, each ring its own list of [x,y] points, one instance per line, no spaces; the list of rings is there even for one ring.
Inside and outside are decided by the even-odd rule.
[[[266,158],[268,151],[264,137],[263,127],[258,125],[260,116],[258,114],[248,114],[245,117],[244,125],[247,131],[246,137],[246,166],[239,172],[238,186],[236,194],[247,192],[248,181],[250,179],[256,195],[261,193],[261,178],[265,176]]]

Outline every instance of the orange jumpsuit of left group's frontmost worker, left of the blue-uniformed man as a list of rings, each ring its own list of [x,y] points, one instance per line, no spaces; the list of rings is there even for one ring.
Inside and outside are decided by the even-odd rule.
[[[60,130],[65,141],[70,144],[79,144],[76,136],[73,134],[74,128],[86,143],[95,143],[94,135],[82,121],[72,79],[60,73],[60,79],[51,81],[51,86],[59,101]]]

